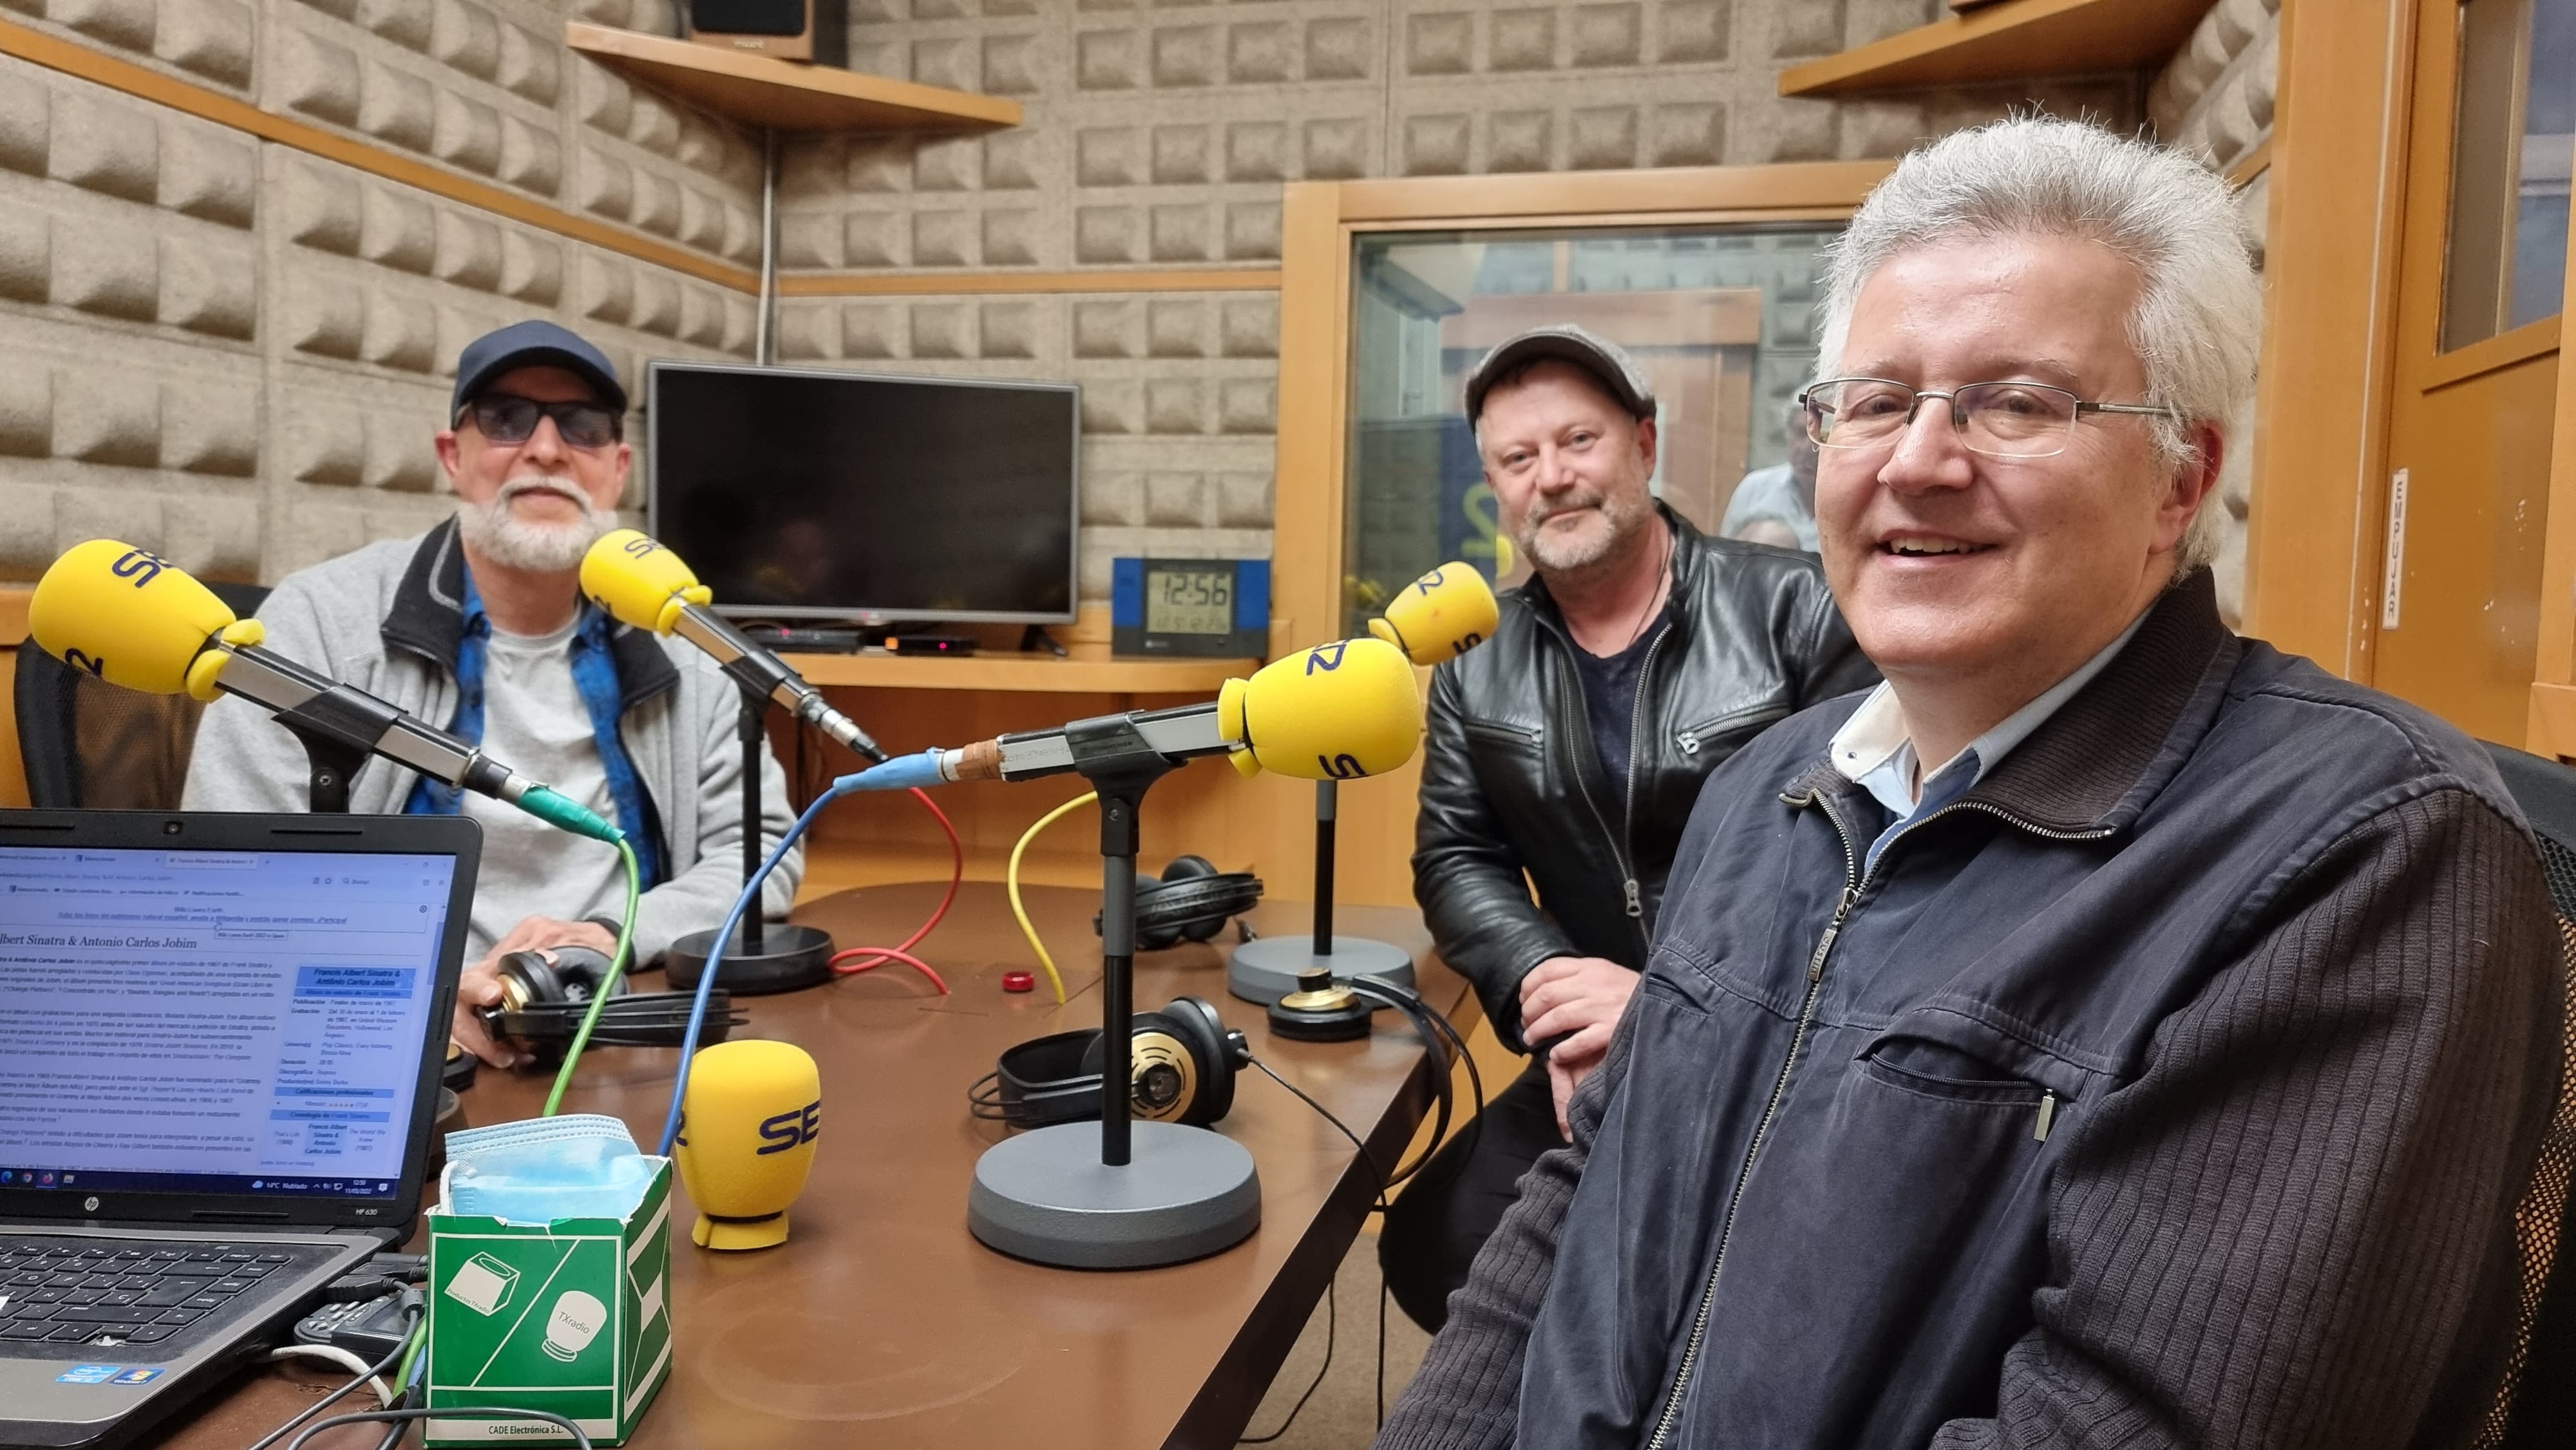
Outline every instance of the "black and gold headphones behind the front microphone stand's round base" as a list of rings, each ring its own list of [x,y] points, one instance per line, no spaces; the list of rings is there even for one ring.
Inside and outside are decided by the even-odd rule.
[[[1136,1118],[1206,1128],[1234,1107],[1234,1074],[1252,1061],[1252,1046],[1206,997],[1136,1012],[1133,1033],[1128,1105]],[[1020,1043],[966,1089],[966,1102],[976,1118],[1012,1128],[1100,1118],[1103,1056],[1097,1028]]]

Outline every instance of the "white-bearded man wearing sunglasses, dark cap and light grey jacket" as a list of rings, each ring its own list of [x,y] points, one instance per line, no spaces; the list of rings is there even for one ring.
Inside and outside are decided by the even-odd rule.
[[[479,742],[513,770],[618,822],[644,896],[634,953],[716,927],[742,891],[737,693],[696,649],[631,631],[580,595],[582,554],[616,528],[634,448],[626,389],[580,335],[515,322],[456,358],[438,466],[456,518],[417,538],[368,543],[299,569],[260,608],[268,644],[335,680]],[[301,744],[265,711],[219,698],[198,726],[188,809],[301,811]],[[762,834],[788,827],[778,762],[762,762]],[[513,950],[616,948],[626,876],[616,852],[513,806],[453,791],[386,760],[350,783],[353,811],[466,814],[482,824],[482,876],[456,994],[456,1040],[495,1066],[474,1007],[500,1002]],[[786,914],[801,858],[770,876]]]

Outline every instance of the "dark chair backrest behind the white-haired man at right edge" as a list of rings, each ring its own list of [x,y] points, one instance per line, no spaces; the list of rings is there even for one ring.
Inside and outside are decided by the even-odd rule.
[[[2514,1216],[2522,1241],[2514,1360],[2478,1445],[2566,1450],[2576,1445],[2576,1262],[2568,1262],[2576,1259],[2576,1195],[2568,1192],[2576,1180],[2576,770],[2501,744],[2488,744],[2486,752],[2540,840],[2568,1004],[2558,1113]]]

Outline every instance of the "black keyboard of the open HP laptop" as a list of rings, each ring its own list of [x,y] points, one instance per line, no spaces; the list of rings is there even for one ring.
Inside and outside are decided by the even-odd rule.
[[[314,1249],[0,1236],[0,1347],[162,1344]]]

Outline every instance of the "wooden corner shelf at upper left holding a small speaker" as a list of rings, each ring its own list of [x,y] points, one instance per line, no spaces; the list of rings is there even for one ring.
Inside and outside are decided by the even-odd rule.
[[[564,21],[564,44],[629,80],[770,131],[958,131],[1020,124],[1020,103],[999,95],[734,54],[585,21]]]

